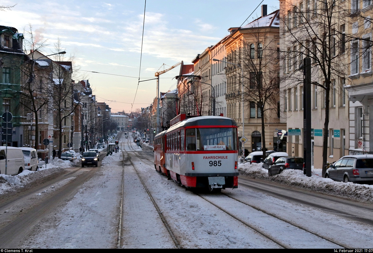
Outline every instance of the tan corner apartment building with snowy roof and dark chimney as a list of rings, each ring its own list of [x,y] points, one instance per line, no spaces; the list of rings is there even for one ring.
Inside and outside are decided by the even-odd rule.
[[[266,5],[263,5],[260,18],[243,27],[230,28],[230,35],[223,42],[229,62],[225,69],[226,114],[238,123],[239,137],[244,135],[249,140],[244,144],[249,152],[262,151],[262,119],[266,149],[286,151],[286,145],[282,145],[286,137],[279,140],[277,135],[279,130],[286,129],[286,121],[280,122],[278,113],[279,10],[269,15],[266,10]],[[270,95],[265,95],[266,92]],[[264,115],[260,104],[263,105]]]

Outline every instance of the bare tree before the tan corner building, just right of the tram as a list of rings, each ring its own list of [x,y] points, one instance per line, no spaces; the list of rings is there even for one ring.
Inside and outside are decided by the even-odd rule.
[[[278,15],[278,12],[274,14]],[[261,27],[251,23],[250,33],[244,34],[228,53],[228,91],[241,99],[243,86],[244,104],[248,105],[250,117],[261,118],[261,143],[263,158],[266,157],[265,125],[277,118],[279,100],[278,28]],[[243,82],[243,83],[242,83]],[[255,110],[257,107],[257,111]],[[241,110],[241,108],[239,108]],[[256,115],[257,114],[257,115]],[[241,117],[241,115],[240,115]]]

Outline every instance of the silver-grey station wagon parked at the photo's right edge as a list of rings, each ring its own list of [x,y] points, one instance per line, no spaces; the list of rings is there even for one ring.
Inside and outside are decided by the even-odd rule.
[[[347,155],[330,165],[326,178],[345,183],[373,182],[373,155]]]

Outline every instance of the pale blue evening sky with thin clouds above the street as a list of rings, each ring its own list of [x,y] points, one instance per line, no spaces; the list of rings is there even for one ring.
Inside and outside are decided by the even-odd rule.
[[[46,55],[53,53],[59,39],[67,52],[65,60],[73,57],[74,78],[89,79],[96,100],[106,101],[112,112],[129,112],[149,106],[156,97],[156,80],[138,83],[139,73],[141,80],[151,79],[163,63],[191,64],[197,54],[228,35],[230,27],[241,25],[260,1],[147,0],[141,69],[145,0],[1,1],[1,5],[14,4],[0,12],[0,25],[24,32],[25,40],[31,25],[35,39],[46,45],[42,50]],[[261,4],[267,4],[268,13],[279,8],[278,0]],[[260,12],[259,6],[244,25]],[[176,88],[179,70],[160,76],[161,92]]]

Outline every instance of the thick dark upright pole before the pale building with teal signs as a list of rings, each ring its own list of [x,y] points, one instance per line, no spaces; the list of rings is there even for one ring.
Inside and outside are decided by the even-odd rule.
[[[311,177],[311,58],[303,59],[303,173]]]

